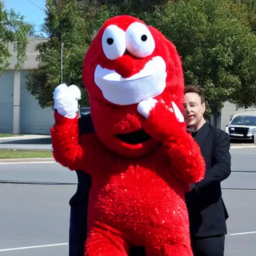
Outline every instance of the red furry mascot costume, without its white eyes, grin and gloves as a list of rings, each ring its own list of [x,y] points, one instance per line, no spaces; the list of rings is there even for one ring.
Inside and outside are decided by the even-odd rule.
[[[166,107],[175,101],[181,109],[183,101],[182,68],[174,45],[150,28],[158,42],[152,56],[166,58],[167,78],[164,92],[154,97],[158,102],[148,118],[137,112],[137,104],[108,102],[94,83],[97,64],[121,73],[127,58],[133,58],[128,54],[124,62],[120,60],[123,56],[107,61],[102,52],[96,54],[105,27],[115,22],[125,30],[133,21],[137,19],[107,21],[86,53],[83,77],[95,134],[78,139],[77,118],[56,112],[51,129],[53,155],[62,165],[82,169],[92,178],[85,255],[125,256],[134,244],[145,246],[147,255],[192,256],[184,194],[189,183],[203,178],[205,164],[185,123]],[[158,45],[166,47],[165,52]],[[123,74],[138,72],[147,60],[134,58],[128,65],[132,68]],[[129,144],[116,135],[139,130],[150,138]]]

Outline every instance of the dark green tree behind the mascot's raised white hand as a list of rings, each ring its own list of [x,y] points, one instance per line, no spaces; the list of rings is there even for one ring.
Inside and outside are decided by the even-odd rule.
[[[46,18],[42,31],[47,38],[39,44],[38,68],[30,70],[27,89],[41,107],[52,106],[52,92],[61,81],[61,43],[63,43],[63,82],[81,88],[82,104],[86,104],[86,91],[82,83],[81,67],[88,47],[84,18],[75,1],[46,0]]]

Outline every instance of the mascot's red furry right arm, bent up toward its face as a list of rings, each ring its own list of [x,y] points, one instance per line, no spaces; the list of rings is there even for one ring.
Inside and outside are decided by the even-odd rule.
[[[179,122],[164,104],[156,104],[143,128],[153,138],[162,141],[174,167],[173,174],[177,178],[185,183],[195,183],[203,179],[205,161],[199,145],[186,131],[185,123]]]

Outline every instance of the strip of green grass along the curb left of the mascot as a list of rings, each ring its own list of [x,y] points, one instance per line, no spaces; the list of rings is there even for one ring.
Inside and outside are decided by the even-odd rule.
[[[48,158],[52,157],[51,151],[43,150],[16,150],[16,149],[0,149],[0,159],[10,158]]]

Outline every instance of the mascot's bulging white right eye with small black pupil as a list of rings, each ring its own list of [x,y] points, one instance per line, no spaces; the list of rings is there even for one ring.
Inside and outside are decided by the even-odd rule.
[[[125,41],[127,50],[139,58],[151,55],[155,48],[151,32],[140,22],[134,22],[128,26]]]

